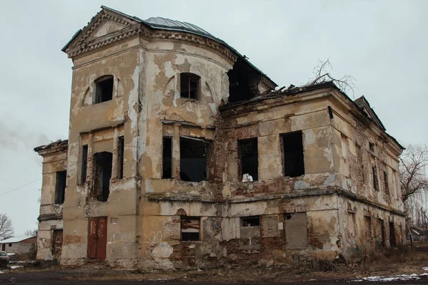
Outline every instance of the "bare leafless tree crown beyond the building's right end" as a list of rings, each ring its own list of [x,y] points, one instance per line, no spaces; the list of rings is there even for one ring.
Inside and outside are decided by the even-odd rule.
[[[406,202],[414,193],[428,190],[425,167],[428,165],[427,145],[409,145],[399,157],[399,182]]]

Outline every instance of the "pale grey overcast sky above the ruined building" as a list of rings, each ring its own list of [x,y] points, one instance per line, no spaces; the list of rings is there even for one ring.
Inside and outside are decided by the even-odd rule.
[[[332,74],[356,78],[353,97],[366,96],[390,135],[427,141],[428,1],[0,0],[0,212],[16,235],[37,227],[33,148],[68,137],[72,62],[61,48],[101,5],[200,26],[279,86],[305,83],[330,58]]]

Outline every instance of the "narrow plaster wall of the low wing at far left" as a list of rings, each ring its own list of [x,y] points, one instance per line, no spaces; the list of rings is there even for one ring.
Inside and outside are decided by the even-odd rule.
[[[44,151],[39,233],[37,235],[37,259],[53,259],[52,229],[63,228],[63,205],[55,204],[56,172],[63,170],[67,170],[66,150]]]

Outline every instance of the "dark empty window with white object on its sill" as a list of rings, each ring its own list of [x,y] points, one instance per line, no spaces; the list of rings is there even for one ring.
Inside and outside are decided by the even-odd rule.
[[[258,142],[257,138],[238,140],[240,152],[240,177],[246,181],[258,180]],[[248,175],[250,177],[248,177]],[[247,178],[248,177],[248,178]]]

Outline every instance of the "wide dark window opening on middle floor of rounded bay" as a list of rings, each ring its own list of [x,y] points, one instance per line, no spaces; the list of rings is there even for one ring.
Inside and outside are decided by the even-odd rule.
[[[207,178],[207,147],[203,140],[180,137],[180,178],[200,182]]]

